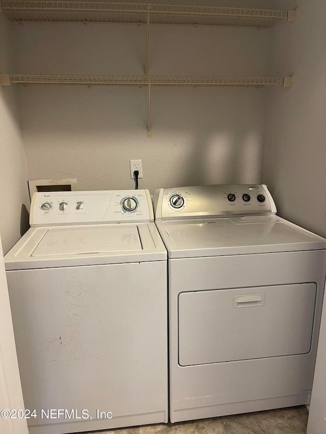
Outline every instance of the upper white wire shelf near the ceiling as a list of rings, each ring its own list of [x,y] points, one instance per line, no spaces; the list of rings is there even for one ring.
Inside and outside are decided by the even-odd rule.
[[[153,24],[270,27],[294,21],[296,11],[210,6],[153,5],[80,1],[2,0],[2,10],[15,22],[119,22]]]

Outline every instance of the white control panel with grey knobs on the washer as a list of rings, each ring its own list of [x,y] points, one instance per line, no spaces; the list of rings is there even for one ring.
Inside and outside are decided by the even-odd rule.
[[[153,221],[148,190],[55,191],[34,193],[30,225]]]

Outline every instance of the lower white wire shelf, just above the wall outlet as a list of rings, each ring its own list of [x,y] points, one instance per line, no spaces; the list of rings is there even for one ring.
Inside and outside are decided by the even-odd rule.
[[[0,85],[122,85],[122,86],[265,86],[291,87],[292,77],[214,77],[163,75],[53,75],[53,74],[0,74]]]

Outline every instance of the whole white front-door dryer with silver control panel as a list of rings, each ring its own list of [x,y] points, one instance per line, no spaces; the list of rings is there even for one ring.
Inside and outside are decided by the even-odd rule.
[[[264,185],[155,192],[172,422],[310,401],[326,240],[275,213]]]

